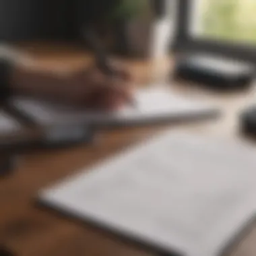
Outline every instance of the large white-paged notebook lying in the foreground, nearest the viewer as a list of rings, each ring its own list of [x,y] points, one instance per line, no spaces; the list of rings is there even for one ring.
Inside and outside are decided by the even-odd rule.
[[[38,199],[170,255],[220,256],[255,216],[255,166],[245,143],[167,131]]]

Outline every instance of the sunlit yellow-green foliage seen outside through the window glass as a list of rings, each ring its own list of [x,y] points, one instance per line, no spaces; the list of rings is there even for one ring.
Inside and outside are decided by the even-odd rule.
[[[207,38],[256,42],[256,1],[204,0],[202,32]]]

